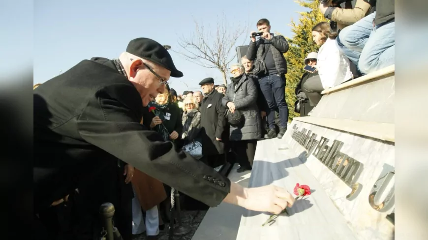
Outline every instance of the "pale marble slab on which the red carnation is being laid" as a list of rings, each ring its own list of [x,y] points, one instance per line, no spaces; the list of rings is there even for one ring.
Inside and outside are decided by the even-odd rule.
[[[304,152],[294,152],[280,139],[257,143],[249,187],[274,184],[293,192],[296,183],[313,189],[298,200],[289,216],[280,215],[269,226],[262,223],[269,213],[247,211],[242,215],[237,240],[356,240],[355,233],[312,172],[305,165]]]

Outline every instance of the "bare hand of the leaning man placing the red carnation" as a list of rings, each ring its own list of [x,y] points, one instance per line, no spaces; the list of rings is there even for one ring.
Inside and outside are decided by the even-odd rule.
[[[268,185],[244,188],[231,182],[230,193],[223,201],[252,211],[279,214],[286,207],[292,207],[295,199],[282,187]]]

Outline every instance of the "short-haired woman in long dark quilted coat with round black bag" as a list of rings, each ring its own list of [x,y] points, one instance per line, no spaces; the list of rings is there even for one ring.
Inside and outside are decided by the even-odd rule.
[[[242,114],[241,123],[230,126],[232,151],[239,157],[241,167],[238,172],[251,170],[256,152],[257,140],[262,138],[262,120],[257,107],[257,86],[254,80],[245,75],[242,64],[233,64],[232,83],[227,86],[222,104],[232,113]]]

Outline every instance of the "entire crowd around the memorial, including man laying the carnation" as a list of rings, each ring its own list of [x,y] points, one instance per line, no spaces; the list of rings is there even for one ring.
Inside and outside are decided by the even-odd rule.
[[[332,1],[320,5],[343,28],[338,34],[327,22],[312,28],[320,49],[303,59],[307,68],[295,103],[301,116],[311,114],[324,89],[394,64],[394,1],[352,2],[339,10]],[[256,27],[245,56],[230,67],[228,85],[208,77],[200,91],[178,94],[167,81],[183,73],[162,45],[147,38],[132,40],[118,59],[84,60],[36,84],[39,239],[98,238],[104,202],[115,205],[114,223],[124,240],[143,232],[156,239],[164,223],[174,221],[171,188],[210,207],[225,201],[279,213],[291,206],[282,188],[242,188],[215,170],[238,162],[238,172],[250,171],[257,141],[287,131],[283,53],[289,46],[270,32],[269,20]]]

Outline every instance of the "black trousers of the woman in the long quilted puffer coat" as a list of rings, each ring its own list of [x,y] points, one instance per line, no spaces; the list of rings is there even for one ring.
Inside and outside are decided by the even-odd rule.
[[[238,163],[242,167],[251,168],[256,154],[257,139],[231,141],[231,143],[232,150],[237,155]]]

